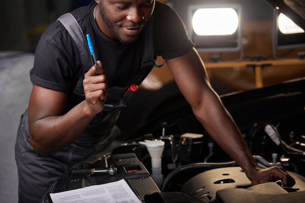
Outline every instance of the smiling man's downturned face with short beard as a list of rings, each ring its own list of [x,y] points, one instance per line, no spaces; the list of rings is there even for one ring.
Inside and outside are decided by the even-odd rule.
[[[106,26],[101,31],[122,43],[133,42],[154,8],[154,0],[99,0],[99,14]]]

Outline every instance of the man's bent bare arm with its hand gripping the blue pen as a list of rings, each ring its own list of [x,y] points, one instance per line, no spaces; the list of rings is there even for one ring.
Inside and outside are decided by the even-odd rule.
[[[68,94],[33,86],[29,101],[29,132],[33,148],[47,155],[74,142],[96,113],[103,110],[108,83],[100,66],[93,66],[83,81],[86,100],[65,113]]]

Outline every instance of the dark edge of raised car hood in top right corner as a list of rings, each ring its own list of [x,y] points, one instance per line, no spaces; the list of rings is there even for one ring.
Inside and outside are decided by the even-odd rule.
[[[265,0],[305,29],[305,0]]]

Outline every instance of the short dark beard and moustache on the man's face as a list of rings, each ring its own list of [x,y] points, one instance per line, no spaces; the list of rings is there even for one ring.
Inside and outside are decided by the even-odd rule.
[[[102,6],[102,3],[99,4],[99,13],[101,15],[101,18],[103,19],[104,23],[107,25],[107,27],[111,30],[111,32],[114,34],[114,37],[120,42],[120,43],[123,43],[123,44],[128,44],[128,43],[131,43],[131,42],[127,42],[127,41],[124,41],[120,35],[119,35],[119,32],[117,30],[117,26],[114,24],[114,22],[112,22],[111,20],[109,20],[105,14],[105,10]],[[145,24],[145,20],[141,21],[140,23],[132,23],[128,26],[124,26],[124,25],[119,25],[120,27],[136,27],[136,26],[144,26]]]

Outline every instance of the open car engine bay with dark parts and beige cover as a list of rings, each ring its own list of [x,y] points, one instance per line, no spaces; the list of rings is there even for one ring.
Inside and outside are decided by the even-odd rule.
[[[303,87],[305,80],[300,78],[221,96],[257,163],[263,168],[283,166],[296,180],[291,188],[283,187],[281,180],[251,186],[241,168],[213,142],[178,94],[173,98],[179,105],[171,106],[172,99],[167,96],[165,103],[147,116],[145,125],[125,141],[119,140],[111,151],[98,153],[67,171],[50,193],[123,178],[146,203],[300,202],[305,194]],[[158,180],[152,176],[152,155],[143,145],[154,140],[164,143],[160,154],[162,178]],[[117,171],[110,174],[113,168]]]

